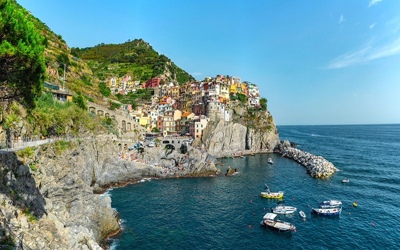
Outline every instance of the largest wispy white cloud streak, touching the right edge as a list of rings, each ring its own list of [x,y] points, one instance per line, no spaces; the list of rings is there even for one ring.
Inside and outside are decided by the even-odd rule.
[[[400,53],[400,37],[391,43],[383,46],[374,47],[369,41],[355,52],[347,52],[333,59],[327,68],[341,68],[354,64],[366,63],[370,60],[395,55]]]

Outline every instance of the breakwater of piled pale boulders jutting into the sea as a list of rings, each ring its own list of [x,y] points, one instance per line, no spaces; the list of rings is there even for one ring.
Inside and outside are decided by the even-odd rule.
[[[316,156],[311,153],[307,153],[297,148],[285,147],[279,152],[282,157],[286,157],[297,161],[301,165],[307,168],[307,172],[311,177],[325,178],[331,175],[334,171],[338,170],[332,162]]]

